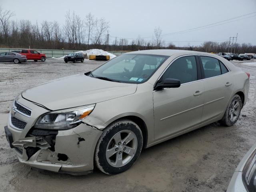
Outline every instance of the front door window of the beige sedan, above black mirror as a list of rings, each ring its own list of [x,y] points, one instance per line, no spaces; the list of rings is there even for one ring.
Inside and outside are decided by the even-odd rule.
[[[164,72],[160,81],[165,78],[178,79],[181,84],[198,80],[195,56],[185,56],[175,60]]]

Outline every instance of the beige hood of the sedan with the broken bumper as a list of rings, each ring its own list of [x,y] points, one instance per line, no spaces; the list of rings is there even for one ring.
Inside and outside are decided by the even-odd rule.
[[[136,92],[137,84],[110,82],[84,74],[40,84],[22,92],[22,97],[50,110],[94,104]]]

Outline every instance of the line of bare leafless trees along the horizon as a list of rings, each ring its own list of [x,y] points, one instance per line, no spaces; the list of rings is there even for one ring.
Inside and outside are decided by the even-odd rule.
[[[108,51],[133,51],[147,49],[185,49],[202,52],[256,53],[256,46],[250,43],[203,42],[200,46],[175,46],[162,40],[162,29],[155,27],[150,40],[140,35],[136,39],[112,37],[110,24],[104,18],[96,18],[91,13],[81,18],[74,11],[67,11],[61,26],[57,21],[44,20],[34,23],[30,20],[12,20],[11,10],[0,6],[0,47],[87,50],[100,48]]]

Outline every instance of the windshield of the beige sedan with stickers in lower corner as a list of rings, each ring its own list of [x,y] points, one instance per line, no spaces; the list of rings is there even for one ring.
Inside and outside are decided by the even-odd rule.
[[[124,83],[143,83],[169,56],[123,54],[94,70],[90,76]]]

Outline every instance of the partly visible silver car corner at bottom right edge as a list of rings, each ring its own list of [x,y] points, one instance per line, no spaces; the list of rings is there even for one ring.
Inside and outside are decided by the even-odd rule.
[[[256,144],[238,164],[226,192],[256,191]]]

